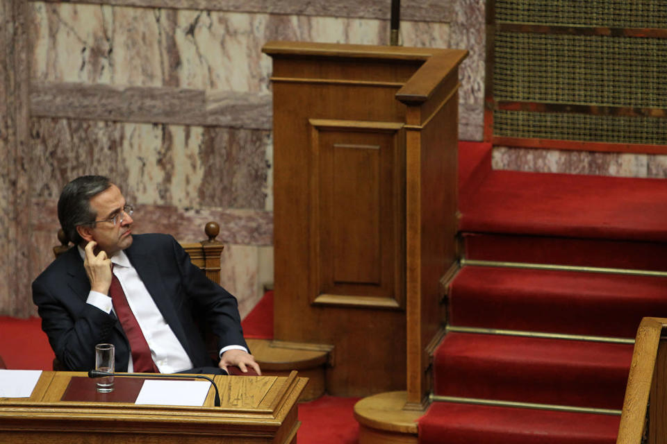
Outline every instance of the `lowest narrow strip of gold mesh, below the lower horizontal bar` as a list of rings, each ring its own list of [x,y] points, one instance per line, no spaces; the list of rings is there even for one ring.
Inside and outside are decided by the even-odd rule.
[[[499,137],[667,145],[667,120],[496,110],[493,133]]]

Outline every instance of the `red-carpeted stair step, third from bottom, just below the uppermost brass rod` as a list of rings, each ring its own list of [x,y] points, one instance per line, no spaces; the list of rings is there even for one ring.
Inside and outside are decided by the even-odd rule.
[[[667,317],[667,277],[465,266],[450,289],[457,326],[634,338],[644,316]]]

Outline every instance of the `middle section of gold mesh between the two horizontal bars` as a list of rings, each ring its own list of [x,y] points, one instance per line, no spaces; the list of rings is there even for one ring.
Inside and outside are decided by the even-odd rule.
[[[496,101],[667,108],[666,39],[496,33],[494,69]]]

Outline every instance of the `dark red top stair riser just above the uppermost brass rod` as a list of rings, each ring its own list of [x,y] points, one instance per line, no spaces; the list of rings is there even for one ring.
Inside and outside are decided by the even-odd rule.
[[[667,242],[463,233],[466,259],[667,271]]]

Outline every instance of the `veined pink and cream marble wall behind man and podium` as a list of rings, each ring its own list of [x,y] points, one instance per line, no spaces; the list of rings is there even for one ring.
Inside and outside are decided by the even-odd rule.
[[[71,178],[101,173],[135,203],[137,232],[196,241],[203,239],[206,221],[220,222],[218,239],[226,244],[222,284],[236,294],[245,315],[263,284],[272,282],[272,139],[270,127],[254,114],[225,119],[246,112],[225,98],[246,94],[270,115],[265,42],[388,44],[389,2],[381,8],[372,0],[338,2],[333,8],[292,0],[277,10],[272,2],[238,6],[224,0],[0,1],[3,12],[11,12],[3,15],[5,23],[24,24],[24,33],[5,27],[0,36],[0,103],[12,99],[16,105],[0,118],[6,169],[0,176],[0,221],[6,225],[0,272],[11,277],[0,279],[0,314],[35,314],[30,282],[51,260],[58,193]],[[402,17],[404,46],[470,49],[461,67],[460,135],[481,139],[484,1],[455,0],[444,7],[404,0]],[[16,57],[24,62],[17,65]],[[48,102],[35,105],[26,94],[30,85],[42,92],[49,85],[201,90],[220,99],[212,103],[222,117],[195,125],[185,117],[156,123],[104,119],[99,112],[94,118],[81,111],[53,115],[58,112],[49,114]],[[88,100],[94,108],[96,97]],[[9,137],[12,130],[17,135]],[[14,239],[22,239],[20,248]]]

